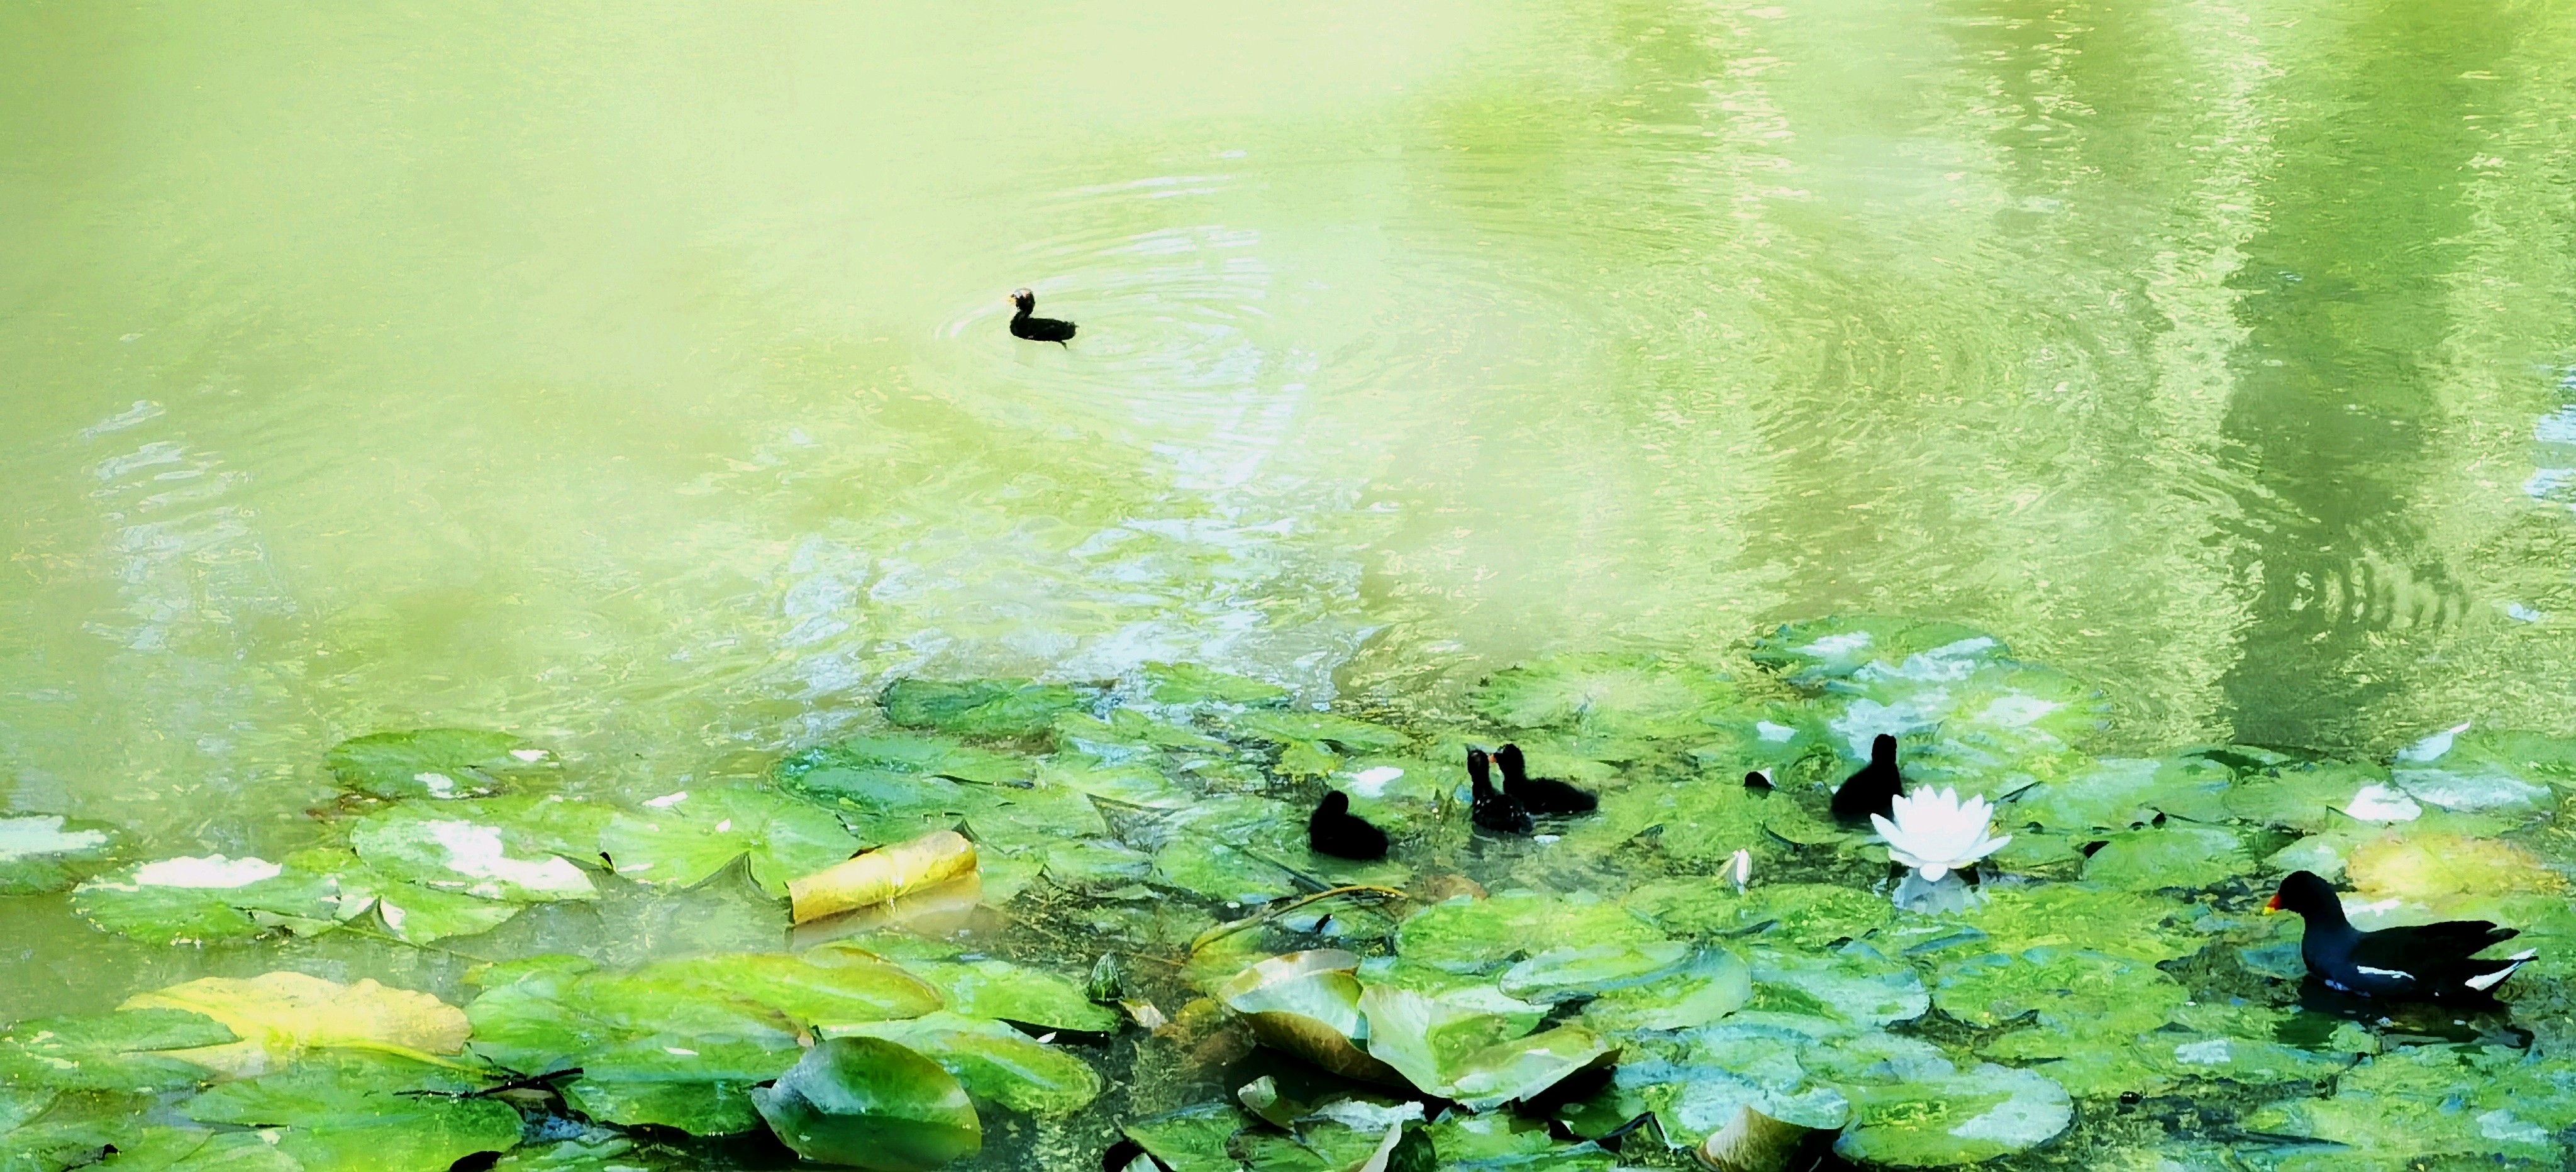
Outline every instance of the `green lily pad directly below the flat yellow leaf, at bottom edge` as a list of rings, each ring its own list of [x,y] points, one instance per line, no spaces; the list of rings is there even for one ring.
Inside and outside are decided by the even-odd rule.
[[[471,1090],[482,1084],[446,1066],[348,1054],[227,1082],[180,1110],[198,1123],[281,1128],[276,1149],[309,1172],[448,1167],[518,1146],[518,1113],[461,1097]]]

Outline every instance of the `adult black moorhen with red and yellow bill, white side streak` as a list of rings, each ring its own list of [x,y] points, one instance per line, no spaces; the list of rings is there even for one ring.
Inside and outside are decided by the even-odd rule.
[[[2262,907],[2272,912],[2298,912],[2306,932],[2298,956],[2326,989],[2357,997],[2385,997],[2403,1002],[2486,1002],[2494,989],[2540,956],[2524,948],[2499,961],[2478,961],[2476,953],[2522,935],[2514,927],[2496,927],[2486,920],[2445,920],[2439,925],[2380,927],[2362,932],[2344,920],[2344,902],[2334,886],[2308,871],[2293,871],[2280,881],[2280,891]]]

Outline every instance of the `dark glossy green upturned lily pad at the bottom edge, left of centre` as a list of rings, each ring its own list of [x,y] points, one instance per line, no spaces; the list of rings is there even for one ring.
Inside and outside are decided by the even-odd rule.
[[[940,1064],[884,1038],[824,1038],[752,1105],[804,1159],[930,1172],[984,1149],[984,1123]]]

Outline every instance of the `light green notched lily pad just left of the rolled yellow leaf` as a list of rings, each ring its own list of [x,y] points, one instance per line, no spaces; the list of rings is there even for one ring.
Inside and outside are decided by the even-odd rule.
[[[860,850],[840,819],[804,801],[724,786],[654,799],[600,832],[618,876],[652,886],[698,886],[750,855],[752,881],[786,899],[788,881]]]

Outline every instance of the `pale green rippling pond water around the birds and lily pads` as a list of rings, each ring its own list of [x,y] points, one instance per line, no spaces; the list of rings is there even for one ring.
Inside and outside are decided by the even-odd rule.
[[[546,786],[634,809],[768,793],[781,757],[881,729],[894,680],[1133,695],[1146,662],[1401,729],[1154,708],[1249,770],[1193,796],[1311,801],[1373,752],[1450,770],[1515,732],[1479,680],[1569,654],[1656,654],[1649,693],[1716,670],[1710,711],[1747,721],[1826,706],[1798,724],[1821,778],[1860,701],[1747,652],[1857,613],[2097,688],[2084,760],[2020,773],[2043,783],[2190,744],[2385,765],[2460,721],[2576,734],[2558,0],[139,3],[0,28],[0,814],[108,824],[118,865],[350,842],[384,809],[325,755],[371,732],[502,729]],[[1079,337],[1012,340],[1015,286]],[[1584,757],[1551,721],[1517,729],[1610,793],[1749,768],[1664,726]],[[976,744],[1069,752],[1005,742]],[[2427,835],[2548,878],[2553,804]],[[1620,896],[1726,858],[1628,868],[1600,832],[1551,863],[1388,817],[1422,835],[1388,881]],[[2069,819],[2025,827],[2120,832]],[[2244,863],[2156,899],[2244,912],[2257,858],[2318,829],[2228,824]],[[1765,878],[1862,891],[1855,850]],[[474,958],[786,927],[739,873],[600,886],[446,953],[381,925],[173,948],[5,896],[0,1020],[276,969],[464,1005]],[[994,948],[1072,963],[1066,914]],[[2223,966],[2257,948],[2228,940]],[[2123,963],[2244,992],[2210,956]],[[1963,1072],[2063,1061],[1929,1041]],[[1121,1082],[1133,1046],[1084,1061]],[[2058,1082],[2079,1108],[2123,1087]],[[1090,1164],[1144,1108],[987,1123],[981,1159]],[[2058,1159],[2226,1149],[2246,1110],[2079,1110]],[[2550,1136],[2486,1123],[2517,1128]]]

